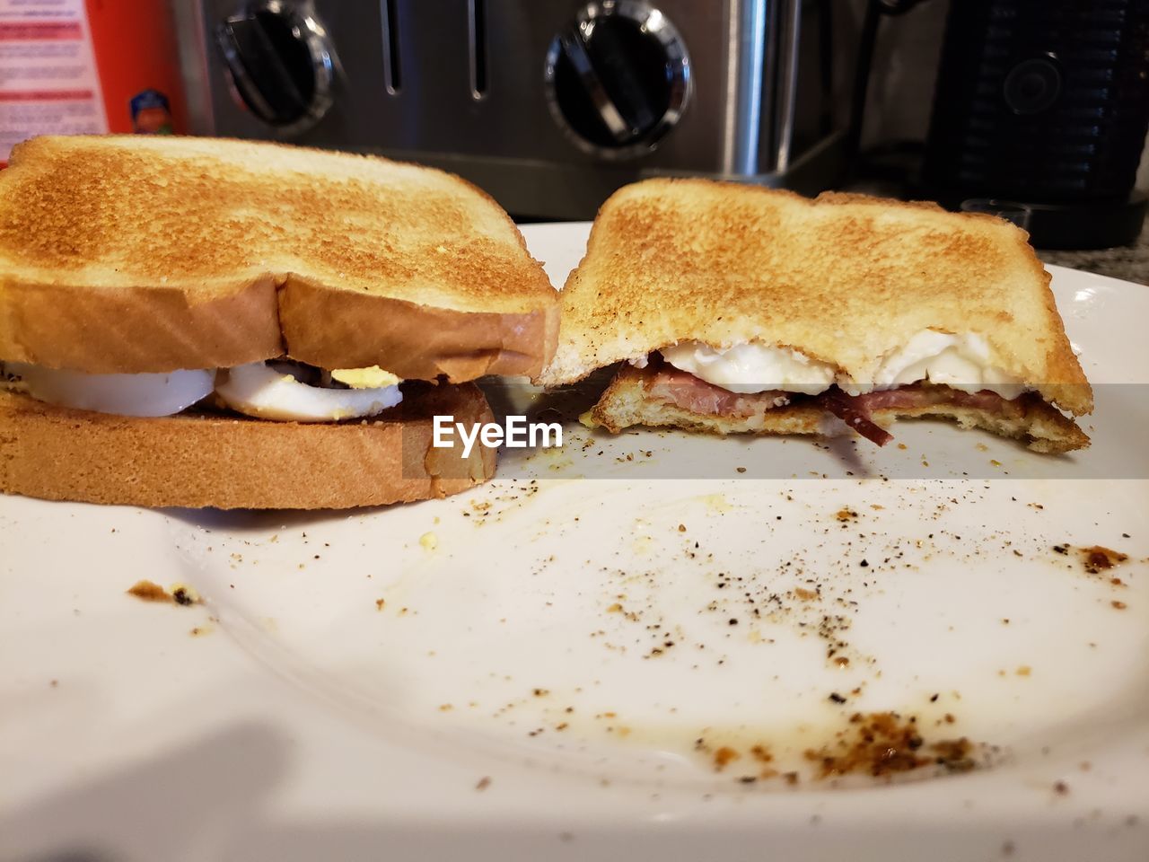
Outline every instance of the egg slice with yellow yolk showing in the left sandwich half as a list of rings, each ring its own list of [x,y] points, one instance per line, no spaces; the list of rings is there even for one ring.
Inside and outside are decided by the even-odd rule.
[[[393,375],[391,377],[394,377]],[[334,422],[375,416],[403,400],[399,378],[390,386],[332,390],[308,386],[262,362],[221,371],[216,394],[246,416],[284,422]]]

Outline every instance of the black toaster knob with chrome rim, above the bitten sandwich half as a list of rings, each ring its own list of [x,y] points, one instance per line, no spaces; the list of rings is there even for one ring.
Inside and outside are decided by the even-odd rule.
[[[648,153],[691,93],[681,36],[637,0],[589,3],[547,53],[552,114],[583,149],[608,159]]]

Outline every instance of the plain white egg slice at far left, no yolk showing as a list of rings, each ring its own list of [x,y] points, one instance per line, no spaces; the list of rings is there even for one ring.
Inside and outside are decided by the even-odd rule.
[[[90,375],[25,362],[6,362],[3,369],[18,378],[16,388],[38,401],[119,416],[171,416],[207,397],[215,386],[215,371],[201,369]]]

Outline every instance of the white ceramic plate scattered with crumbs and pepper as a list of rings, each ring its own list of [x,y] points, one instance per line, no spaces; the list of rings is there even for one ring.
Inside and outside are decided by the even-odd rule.
[[[561,283],[586,230],[524,233]],[[1149,292],[1054,272],[1077,459],[572,428],[365,513],[0,499],[0,857],[1143,859]],[[886,711],[977,768],[816,777]]]

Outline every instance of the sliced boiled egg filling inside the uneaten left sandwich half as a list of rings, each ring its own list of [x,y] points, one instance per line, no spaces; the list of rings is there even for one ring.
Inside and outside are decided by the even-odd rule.
[[[403,400],[401,380],[378,367],[324,371],[272,361],[101,375],[8,362],[0,372],[9,388],[39,401],[119,416],[173,416],[201,405],[277,422],[338,422],[375,416]]]

